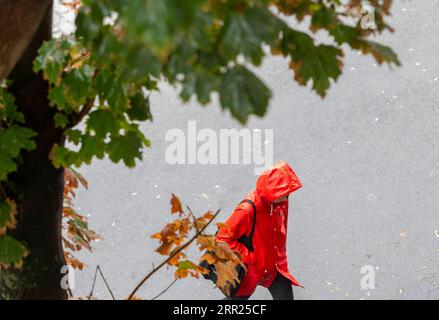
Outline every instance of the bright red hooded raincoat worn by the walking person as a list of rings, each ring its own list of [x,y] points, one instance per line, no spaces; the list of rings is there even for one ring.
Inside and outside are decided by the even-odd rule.
[[[217,241],[226,242],[233,250],[239,252],[248,267],[236,296],[251,295],[257,285],[268,288],[277,272],[289,279],[293,285],[302,287],[288,271],[288,200],[273,203],[274,200],[289,195],[300,187],[302,184],[299,178],[285,161],[279,161],[258,178],[256,189],[245,197],[255,203],[257,210],[253,235],[254,252],[238,242],[243,234],[250,234],[253,221],[251,204],[240,203],[227,219],[225,227],[218,232]]]

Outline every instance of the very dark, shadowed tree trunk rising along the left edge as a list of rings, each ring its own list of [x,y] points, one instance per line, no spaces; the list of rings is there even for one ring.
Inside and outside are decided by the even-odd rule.
[[[55,127],[55,108],[47,100],[48,84],[32,72],[32,61],[44,40],[52,36],[52,8],[49,7],[34,39],[24,51],[9,78],[10,91],[24,113],[26,125],[37,132],[37,148],[23,152],[23,162],[10,176],[18,203],[18,224],[12,236],[26,243],[30,255],[15,274],[19,284],[9,297],[21,299],[66,299],[61,288],[65,265],[61,241],[63,170],[53,167],[49,153],[63,144],[63,131]],[[9,271],[8,271],[9,272]]]

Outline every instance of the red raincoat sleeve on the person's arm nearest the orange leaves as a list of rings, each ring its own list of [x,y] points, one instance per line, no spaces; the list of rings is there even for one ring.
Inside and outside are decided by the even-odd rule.
[[[253,207],[250,204],[245,202],[239,204],[226,220],[225,226],[216,235],[216,240],[227,243],[232,250],[237,251],[244,263],[253,259],[253,252],[248,250],[238,239],[242,235],[250,233],[252,215]]]

